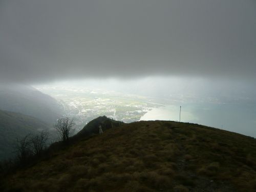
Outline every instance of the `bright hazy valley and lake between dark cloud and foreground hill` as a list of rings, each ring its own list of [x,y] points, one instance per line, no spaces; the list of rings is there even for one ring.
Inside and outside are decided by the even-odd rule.
[[[81,124],[106,115],[115,120],[174,120],[205,124],[255,137],[256,89],[243,82],[203,78],[88,79],[38,84]],[[82,127],[82,126],[81,126]],[[81,129],[80,127],[80,129]],[[79,127],[78,127],[79,129]]]

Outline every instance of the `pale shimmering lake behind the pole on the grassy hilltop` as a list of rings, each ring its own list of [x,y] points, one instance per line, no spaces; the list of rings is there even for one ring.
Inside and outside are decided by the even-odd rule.
[[[180,105],[153,108],[140,120],[179,121]],[[182,103],[181,121],[198,123],[256,138],[255,103]]]

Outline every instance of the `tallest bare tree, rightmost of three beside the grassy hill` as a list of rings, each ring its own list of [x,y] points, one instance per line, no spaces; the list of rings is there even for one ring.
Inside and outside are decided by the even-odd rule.
[[[57,123],[54,125],[56,131],[59,133],[60,139],[63,142],[67,142],[69,138],[74,133],[73,119],[69,117],[62,117],[57,120]]]

